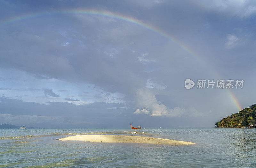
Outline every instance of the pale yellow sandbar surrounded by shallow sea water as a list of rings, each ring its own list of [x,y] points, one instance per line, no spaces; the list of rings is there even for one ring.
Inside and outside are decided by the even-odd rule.
[[[148,143],[148,144],[163,144],[163,145],[190,145],[193,142],[176,141],[171,139],[153,138],[146,136],[132,135],[75,135],[66,138],[60,138],[61,141],[87,141],[87,142],[102,142],[102,143]]]

